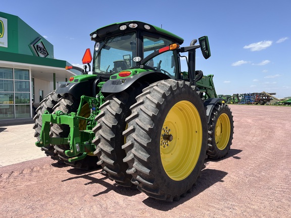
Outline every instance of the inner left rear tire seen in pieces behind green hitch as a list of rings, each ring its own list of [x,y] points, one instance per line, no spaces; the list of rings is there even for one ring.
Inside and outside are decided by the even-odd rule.
[[[62,111],[66,114],[69,114],[71,112],[76,113],[79,107],[79,103],[80,103],[79,100],[75,99],[71,94],[66,93],[58,99],[58,103],[54,106],[53,110],[54,113],[56,113],[57,111]],[[85,104],[85,106],[82,107],[82,111],[80,113],[82,114],[83,117],[89,117],[90,108],[86,107]],[[85,127],[86,124],[80,122],[79,124],[80,130],[86,129]],[[66,138],[68,137],[69,133],[70,127],[68,125],[54,124],[51,127],[50,137]],[[65,151],[70,149],[70,145],[68,144],[54,145],[54,148],[55,148],[54,152],[58,154],[58,157],[71,167],[82,170],[92,170],[99,168],[99,166],[96,165],[96,162],[98,161],[98,156],[93,155],[93,153],[88,154],[84,159],[69,162],[68,156],[66,156]]]

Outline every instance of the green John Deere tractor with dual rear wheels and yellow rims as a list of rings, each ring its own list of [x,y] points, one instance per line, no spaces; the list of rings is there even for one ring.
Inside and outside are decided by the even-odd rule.
[[[36,146],[78,169],[102,167],[116,184],[150,197],[179,200],[191,191],[207,157],[224,157],[233,117],[217,98],[213,75],[196,71],[196,49],[208,59],[208,37],[183,39],[129,21],[92,32],[82,74],[47,95],[34,117]],[[181,53],[188,71],[182,72]],[[92,62],[92,69],[90,66]]]

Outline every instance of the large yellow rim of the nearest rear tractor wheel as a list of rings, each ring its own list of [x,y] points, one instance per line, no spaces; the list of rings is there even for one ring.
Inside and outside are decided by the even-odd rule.
[[[189,101],[176,103],[161,131],[160,153],[167,175],[185,179],[196,166],[202,145],[202,124],[197,108]]]

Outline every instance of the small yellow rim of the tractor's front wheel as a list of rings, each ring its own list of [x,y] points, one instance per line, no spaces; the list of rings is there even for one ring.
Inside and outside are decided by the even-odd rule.
[[[230,121],[227,114],[221,114],[215,126],[215,143],[219,150],[223,150],[230,137]]]

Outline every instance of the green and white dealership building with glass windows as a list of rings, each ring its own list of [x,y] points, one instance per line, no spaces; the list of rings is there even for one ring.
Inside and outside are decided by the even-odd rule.
[[[54,46],[19,17],[0,12],[0,122],[30,119],[35,106],[76,72],[54,59]],[[1,124],[1,123],[0,123]]]

